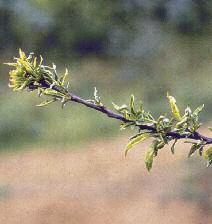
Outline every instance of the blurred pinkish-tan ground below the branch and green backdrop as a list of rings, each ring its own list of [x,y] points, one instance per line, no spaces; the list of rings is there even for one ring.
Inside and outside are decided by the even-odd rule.
[[[2,155],[0,223],[211,223],[211,171],[185,158],[185,144],[162,150],[148,173],[147,144],[124,158],[124,143]]]

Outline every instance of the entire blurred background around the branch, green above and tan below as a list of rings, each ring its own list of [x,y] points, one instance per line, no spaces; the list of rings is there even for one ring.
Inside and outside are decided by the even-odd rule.
[[[76,95],[97,87],[112,108],[134,94],[155,116],[170,110],[168,91],[182,110],[204,103],[207,127],[211,37],[210,0],[0,0],[0,223],[212,223],[211,169],[187,144],[161,150],[148,174],[149,142],[125,159],[132,133],[118,121],[75,103],[36,107],[3,65],[19,48],[41,54],[69,69]]]

